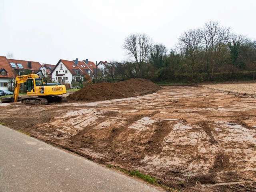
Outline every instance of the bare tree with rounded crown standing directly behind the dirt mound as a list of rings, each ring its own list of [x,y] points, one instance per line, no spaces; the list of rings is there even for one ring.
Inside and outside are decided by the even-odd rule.
[[[138,77],[143,76],[145,64],[152,46],[151,38],[146,34],[130,34],[125,38],[122,48],[135,62],[135,71]]]

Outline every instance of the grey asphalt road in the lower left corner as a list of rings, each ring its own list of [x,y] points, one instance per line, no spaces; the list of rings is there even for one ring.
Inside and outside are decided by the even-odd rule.
[[[147,184],[0,125],[0,192],[157,192]]]

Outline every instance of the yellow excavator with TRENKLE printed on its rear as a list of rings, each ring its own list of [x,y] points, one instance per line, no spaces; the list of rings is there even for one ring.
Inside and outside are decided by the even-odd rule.
[[[18,102],[21,84],[24,83],[29,97],[21,99],[25,104],[43,104],[49,102],[66,102],[66,97],[60,95],[66,93],[66,86],[61,83],[45,83],[37,74],[16,76],[14,96],[1,98],[2,102]]]

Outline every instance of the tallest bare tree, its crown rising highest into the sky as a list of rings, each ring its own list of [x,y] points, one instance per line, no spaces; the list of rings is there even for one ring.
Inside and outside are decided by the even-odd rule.
[[[202,30],[204,37],[206,58],[209,61],[210,67],[207,65],[208,78],[212,78],[214,67],[218,62],[220,50],[227,44],[230,39],[230,28],[220,26],[218,22],[210,21],[205,24]],[[211,77],[210,77],[211,68]]]

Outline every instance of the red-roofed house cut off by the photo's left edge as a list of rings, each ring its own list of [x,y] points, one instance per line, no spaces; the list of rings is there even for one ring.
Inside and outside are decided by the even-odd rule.
[[[0,56],[0,90],[8,90],[8,87],[12,90],[15,78],[16,73],[10,66],[7,58]]]

